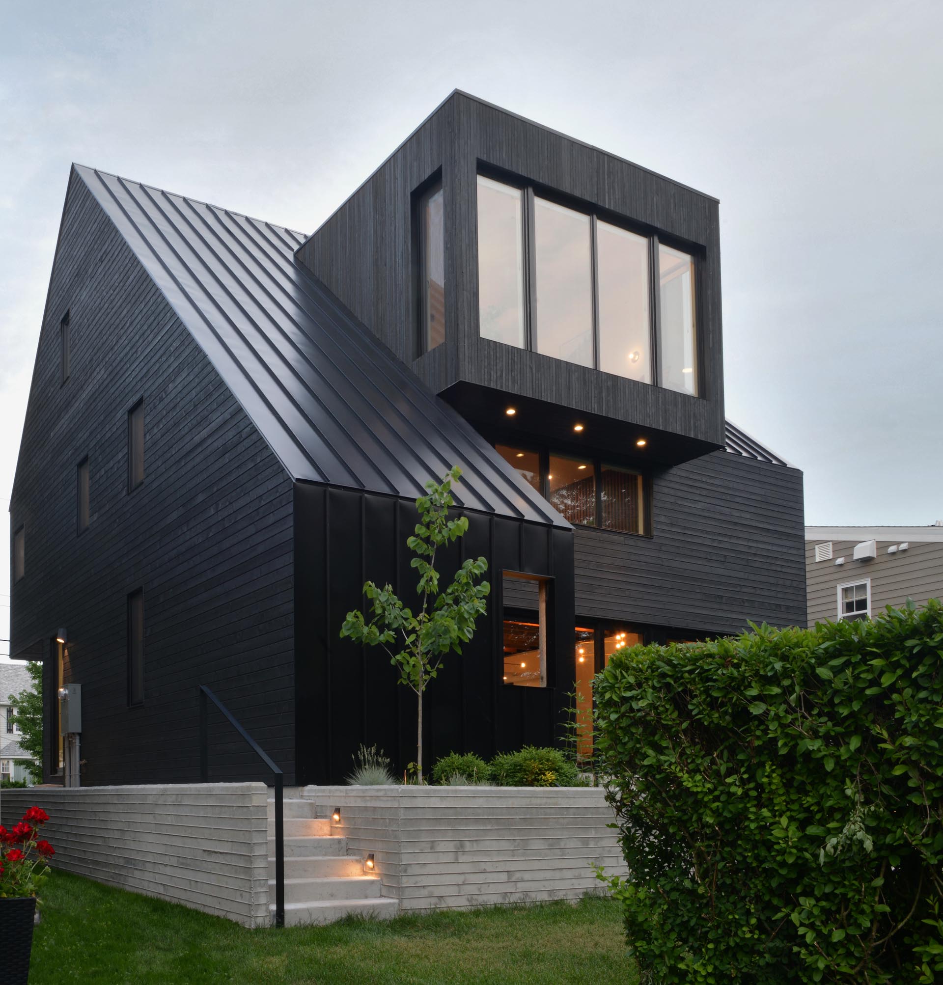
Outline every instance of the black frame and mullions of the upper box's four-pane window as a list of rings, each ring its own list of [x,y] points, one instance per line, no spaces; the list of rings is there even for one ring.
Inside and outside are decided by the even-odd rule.
[[[505,171],[501,167],[495,167],[481,160],[478,161],[476,170],[476,211],[477,211],[477,178],[481,175],[490,178],[492,181],[500,181],[511,188],[518,188],[523,192],[523,209],[521,222],[521,236],[523,242],[524,255],[524,346],[526,352],[537,353],[537,338],[539,326],[537,324],[537,251],[536,251],[536,231],[535,231],[535,198],[542,198],[548,202],[572,209],[573,212],[581,213],[590,219],[590,268],[592,271],[592,367],[597,372],[609,372],[600,365],[600,336],[599,336],[599,244],[598,244],[598,224],[606,223],[618,229],[633,232],[636,235],[644,236],[648,241],[648,346],[650,359],[651,382],[641,383],[643,386],[657,386],[659,389],[668,389],[672,393],[681,393],[686,397],[696,399],[706,399],[704,381],[704,332],[700,320],[699,298],[703,296],[702,279],[704,249],[697,243],[689,243],[670,234],[665,234],[661,230],[655,230],[642,223],[634,223],[625,216],[612,213],[611,211],[584,202],[581,199],[573,198],[554,188],[547,187],[538,181],[532,181],[510,171]],[[661,345],[661,271],[660,257],[658,253],[659,244],[663,243],[672,249],[679,250],[691,257],[694,266],[693,304],[694,304],[694,327],[695,327],[695,392],[686,393],[683,390],[675,390],[665,387],[662,382],[660,345]],[[477,262],[477,244],[476,244]],[[481,328],[479,326],[479,337]],[[499,343],[501,345],[502,343]],[[516,347],[515,347],[516,348]],[[546,354],[543,354],[546,355]],[[556,359],[550,356],[548,359]],[[566,361],[566,360],[562,360]],[[579,363],[573,363],[579,365]],[[590,368],[590,367],[583,367]],[[620,379],[629,379],[618,373],[611,375],[619,376]],[[632,382],[641,382],[632,380]]]

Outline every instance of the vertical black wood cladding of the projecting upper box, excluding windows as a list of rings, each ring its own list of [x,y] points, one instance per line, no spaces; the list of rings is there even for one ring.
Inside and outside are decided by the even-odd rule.
[[[699,257],[700,397],[479,337],[480,162],[674,237]],[[439,167],[446,342],[420,355],[411,195]],[[471,383],[714,447],[723,443],[717,202],[669,178],[455,93],[313,233],[298,256],[437,392]],[[679,452],[674,460],[707,450]]]

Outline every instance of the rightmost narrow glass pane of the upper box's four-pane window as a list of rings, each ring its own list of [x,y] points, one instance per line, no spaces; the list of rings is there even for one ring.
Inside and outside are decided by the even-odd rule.
[[[661,385],[698,393],[695,347],[694,260],[670,246],[658,246],[661,298]]]

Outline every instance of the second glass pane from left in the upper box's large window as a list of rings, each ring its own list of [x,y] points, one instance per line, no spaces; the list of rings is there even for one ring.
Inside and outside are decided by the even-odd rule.
[[[535,199],[537,352],[591,366],[589,217]]]

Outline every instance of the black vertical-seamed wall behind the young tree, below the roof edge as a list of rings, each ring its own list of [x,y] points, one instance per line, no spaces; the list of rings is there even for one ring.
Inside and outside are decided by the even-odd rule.
[[[295,492],[298,613],[298,777],[340,782],[358,746],[377,744],[402,771],[416,757],[416,697],[378,647],[340,638],[347,613],[363,608],[368,579],[414,603],[416,572],[406,547],[415,504],[299,483]],[[424,759],[468,751],[490,756],[559,735],[573,688],[573,533],[468,511],[468,533],[439,554],[443,583],[464,558],[484,556],[492,585],[488,614],[459,656],[449,654],[424,701]],[[554,578],[548,631],[552,687],[502,684],[502,569]]]

